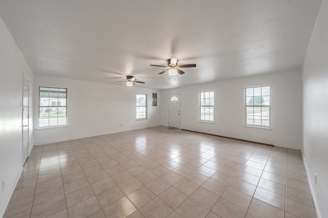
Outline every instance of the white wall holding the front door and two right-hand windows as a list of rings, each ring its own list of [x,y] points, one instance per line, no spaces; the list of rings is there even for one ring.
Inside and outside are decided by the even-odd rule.
[[[244,88],[271,85],[271,127],[244,127]],[[199,92],[214,90],[214,124],[198,122]],[[162,90],[162,125],[168,126],[169,94],[180,94],[181,129],[274,144],[302,146],[300,71]]]

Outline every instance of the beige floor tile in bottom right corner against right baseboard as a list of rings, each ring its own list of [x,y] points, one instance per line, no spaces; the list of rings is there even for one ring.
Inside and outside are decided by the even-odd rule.
[[[316,217],[316,209],[293,199],[286,198],[286,211],[299,217]]]

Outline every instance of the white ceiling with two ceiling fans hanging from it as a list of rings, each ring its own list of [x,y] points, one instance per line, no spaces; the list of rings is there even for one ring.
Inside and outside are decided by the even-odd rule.
[[[302,67],[321,0],[0,0],[33,74],[175,88]],[[186,73],[158,75],[171,56]]]

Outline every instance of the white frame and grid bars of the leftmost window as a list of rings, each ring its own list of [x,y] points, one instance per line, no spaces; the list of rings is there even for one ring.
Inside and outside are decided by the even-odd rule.
[[[47,98],[47,96],[41,96],[41,92],[47,92],[46,90],[42,90],[42,88],[46,88],[46,89],[49,89],[48,90],[48,105],[44,106],[44,105],[40,105],[40,100],[41,98],[44,100],[45,98]],[[53,90],[50,90],[50,89],[53,89]],[[57,89],[57,91],[55,91],[54,89]],[[65,90],[65,91],[64,91]],[[53,96],[51,96],[50,93],[53,93]],[[57,93],[57,94],[54,94],[54,93]],[[59,96],[59,93],[60,94],[63,94],[63,96]],[[56,96],[57,95],[57,96]],[[56,105],[53,105],[51,100],[54,100],[56,99]],[[59,99],[65,99],[65,103],[66,105],[63,105],[61,106],[61,104],[58,104],[59,102]],[[59,102],[61,103],[61,102]],[[48,113],[50,113],[50,108],[56,108],[56,111],[57,111],[57,117],[55,116],[48,116],[48,118],[40,118],[40,113],[41,111],[48,111]],[[65,110],[65,116],[59,116],[58,115],[58,112],[60,111],[59,110],[62,110],[64,108]],[[47,110],[48,109],[48,110]],[[42,129],[42,128],[53,128],[53,127],[65,127],[65,126],[68,126],[67,124],[67,88],[60,88],[60,87],[50,87],[50,86],[39,86],[39,105],[38,105],[38,128]],[[64,120],[63,118],[65,118],[65,124],[59,124],[59,118],[61,120]],[[40,125],[40,119],[48,119],[48,125]],[[52,120],[55,120],[56,119],[56,125],[50,125],[50,119]],[[52,121],[53,122],[53,121]]]

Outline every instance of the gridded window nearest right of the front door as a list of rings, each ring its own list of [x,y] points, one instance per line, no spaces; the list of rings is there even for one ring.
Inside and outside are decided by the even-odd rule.
[[[199,92],[199,121],[214,122],[214,91]]]

